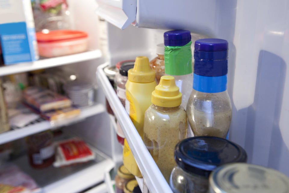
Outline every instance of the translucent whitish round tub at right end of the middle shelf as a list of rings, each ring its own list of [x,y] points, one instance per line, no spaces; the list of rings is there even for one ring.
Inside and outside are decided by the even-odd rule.
[[[94,103],[94,90],[90,83],[79,81],[69,82],[64,86],[64,90],[75,106],[91,106]]]

